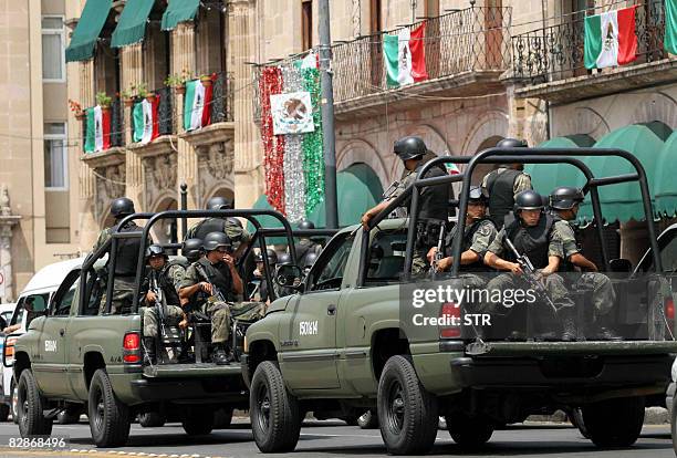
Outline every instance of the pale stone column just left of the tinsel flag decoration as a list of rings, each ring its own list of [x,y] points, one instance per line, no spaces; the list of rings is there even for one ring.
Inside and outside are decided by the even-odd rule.
[[[238,207],[248,208],[263,192],[263,152],[260,134],[253,123],[254,91],[252,69],[256,61],[254,2],[232,0],[229,3],[230,46],[228,62],[235,76],[235,195]]]

